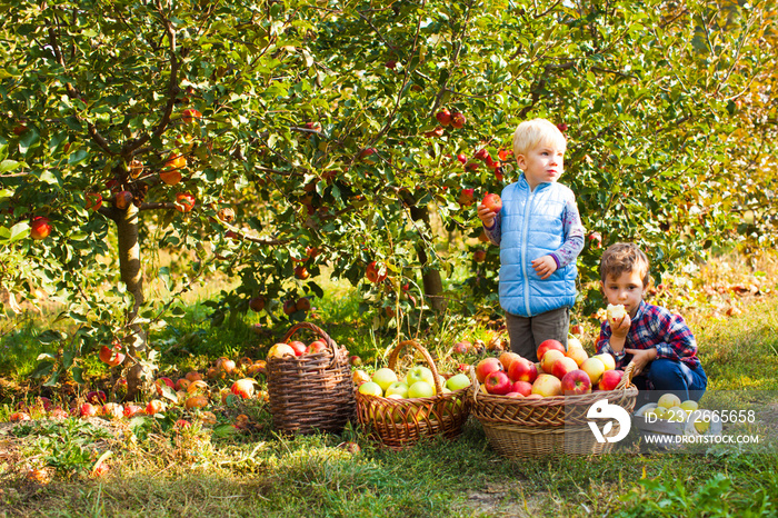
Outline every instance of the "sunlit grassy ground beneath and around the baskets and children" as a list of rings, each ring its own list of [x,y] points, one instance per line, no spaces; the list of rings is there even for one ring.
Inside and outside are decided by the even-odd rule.
[[[339,340],[368,347],[369,336],[355,332],[349,298],[332,300],[322,312]],[[470,419],[457,440],[395,452],[351,427],[340,436],[279,437],[256,400],[220,407],[217,425],[184,430],[176,427],[180,410],[108,427],[101,419],[0,422],[0,516],[778,516],[778,297],[737,302],[734,318],[702,308],[688,320],[710,378],[702,406],[754,409],[756,422],[729,430],[758,435],[758,445],[646,451],[634,430],[609,455],[509,461]],[[247,326],[225,345],[193,315],[168,340],[177,359],[170,369],[200,368],[267,340]],[[11,347],[21,355],[30,346]],[[12,411],[4,402],[0,421]],[[231,426],[240,414],[250,422],[241,431]],[[345,449],[347,441],[361,451]],[[106,452],[110,471],[90,478]],[[33,467],[43,468],[42,481],[29,478]]]

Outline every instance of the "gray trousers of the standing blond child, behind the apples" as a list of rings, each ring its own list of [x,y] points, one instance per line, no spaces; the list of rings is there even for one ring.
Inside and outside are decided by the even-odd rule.
[[[510,350],[530,361],[538,361],[538,346],[545,340],[559,340],[567,348],[570,308],[565,306],[535,317],[518,317],[506,312],[506,327]]]

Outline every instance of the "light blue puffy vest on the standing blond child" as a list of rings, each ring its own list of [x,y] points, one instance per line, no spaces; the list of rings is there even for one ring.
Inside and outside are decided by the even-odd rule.
[[[559,183],[540,183],[533,192],[523,175],[502,189],[500,211],[500,306],[511,315],[532,317],[576,302],[572,262],[548,279],[532,269],[531,261],[561,248],[562,215],[572,191]]]

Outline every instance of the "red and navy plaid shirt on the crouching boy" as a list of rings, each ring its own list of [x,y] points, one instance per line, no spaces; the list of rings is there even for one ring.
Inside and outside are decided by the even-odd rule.
[[[597,352],[610,352],[616,358],[616,368],[626,367],[631,355],[624,351],[614,352],[610,348],[610,323],[605,320],[600,326]],[[656,349],[657,358],[682,361],[696,369],[700,366],[697,358],[697,341],[680,315],[666,308],[640,301],[632,323],[627,332],[625,349]]]

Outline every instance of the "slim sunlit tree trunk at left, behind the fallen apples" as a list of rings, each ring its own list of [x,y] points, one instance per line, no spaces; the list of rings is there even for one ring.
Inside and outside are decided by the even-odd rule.
[[[138,240],[138,208],[130,205],[120,211],[117,218],[117,237],[119,240],[119,271],[121,281],[134,300],[132,309],[127,315],[127,321],[132,322],[143,303],[143,273],[140,268],[140,242]],[[127,399],[132,400],[139,394],[151,389],[153,371],[151,367],[138,358],[138,352],[146,349],[146,330],[138,323],[130,323],[130,337],[127,341],[128,358],[137,362],[127,372]],[[131,361],[131,360],[130,360]]]

